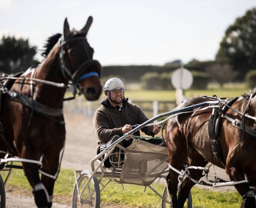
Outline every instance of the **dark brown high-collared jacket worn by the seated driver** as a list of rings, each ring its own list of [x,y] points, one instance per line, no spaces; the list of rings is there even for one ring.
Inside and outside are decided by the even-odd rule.
[[[122,111],[111,106],[108,99],[105,99],[101,103],[102,106],[96,110],[93,116],[93,125],[95,134],[98,137],[98,144],[107,143],[115,135],[123,136],[121,129],[125,124],[133,126],[135,124],[143,124],[148,120],[139,106],[127,101],[128,98],[125,98]],[[154,135],[153,126],[146,126],[141,130],[147,135]],[[136,133],[137,135],[139,134],[139,132]]]

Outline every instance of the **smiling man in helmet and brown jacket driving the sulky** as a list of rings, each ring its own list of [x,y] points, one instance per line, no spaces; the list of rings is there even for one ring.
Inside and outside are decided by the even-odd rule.
[[[105,83],[104,91],[107,98],[93,117],[94,130],[98,137],[97,153],[105,150],[109,141],[116,140],[132,130],[135,124],[142,124],[148,120],[138,106],[129,103],[128,98],[124,98],[124,89],[126,89],[124,82],[119,78],[111,78]],[[150,136],[160,131],[156,125],[146,126],[141,130]],[[139,131],[134,135],[139,136]],[[121,145],[128,147],[130,143],[131,141],[123,141]]]

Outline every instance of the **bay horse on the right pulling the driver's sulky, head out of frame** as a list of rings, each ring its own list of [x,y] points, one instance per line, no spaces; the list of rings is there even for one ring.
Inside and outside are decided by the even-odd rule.
[[[191,98],[176,109],[212,100],[218,99],[206,96]],[[215,157],[217,152],[211,148],[214,145],[209,136],[209,118],[214,114],[213,108],[195,108],[167,121],[166,142],[170,170],[166,180],[173,208],[183,208],[195,185],[195,181],[187,177],[178,190],[179,174],[175,169],[181,171],[184,169],[183,165],[205,167],[208,162],[226,169],[230,180],[236,182],[235,188],[243,199],[241,207],[256,207],[256,88],[250,95],[235,98],[229,104],[220,99],[219,101],[226,106],[225,110],[221,106],[215,108],[215,113],[218,112],[216,115],[221,118],[216,139],[222,159]],[[190,169],[189,176],[198,182],[202,177],[202,170]]]

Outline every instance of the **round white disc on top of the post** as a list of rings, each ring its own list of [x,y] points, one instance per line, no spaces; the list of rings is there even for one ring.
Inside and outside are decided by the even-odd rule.
[[[193,83],[193,75],[188,69],[179,68],[171,76],[171,84],[175,89],[189,89]]]

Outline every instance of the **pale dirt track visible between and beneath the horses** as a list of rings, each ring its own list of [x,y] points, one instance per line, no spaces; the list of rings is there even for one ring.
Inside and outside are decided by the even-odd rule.
[[[78,114],[65,114],[66,144],[63,155],[62,168],[91,169],[90,160],[96,155],[97,139],[93,130],[92,117]],[[223,169],[215,167],[217,177],[229,180]],[[213,167],[210,169],[210,178],[214,178]],[[198,186],[201,189],[215,191],[233,190],[233,186],[212,189],[208,186]],[[7,191],[8,208],[32,208],[35,207],[32,197],[21,197],[17,193]],[[53,204],[53,208],[66,208],[69,206]],[[112,206],[105,206],[111,208]]]

